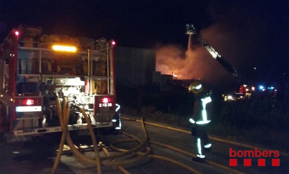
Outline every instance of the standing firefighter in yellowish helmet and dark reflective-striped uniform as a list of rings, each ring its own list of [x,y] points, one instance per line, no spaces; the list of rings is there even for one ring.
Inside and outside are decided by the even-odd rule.
[[[192,135],[195,137],[197,144],[197,158],[192,160],[204,162],[205,149],[210,150],[212,146],[206,131],[208,123],[211,121],[212,99],[205,93],[203,85],[199,82],[190,84],[189,92],[192,92],[196,99],[194,102],[194,114],[190,118],[190,123],[192,123]]]

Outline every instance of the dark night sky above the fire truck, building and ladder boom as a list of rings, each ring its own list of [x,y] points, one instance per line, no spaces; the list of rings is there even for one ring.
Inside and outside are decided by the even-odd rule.
[[[115,39],[119,46],[185,49],[185,25],[192,23],[245,76],[253,67],[264,81],[289,74],[289,1],[1,0],[0,6],[1,42],[22,23],[44,34]]]

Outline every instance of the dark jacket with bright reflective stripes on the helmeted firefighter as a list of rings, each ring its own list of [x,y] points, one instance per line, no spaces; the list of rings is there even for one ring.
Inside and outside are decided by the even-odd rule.
[[[212,99],[209,96],[199,98],[194,103],[194,114],[190,118],[191,123],[208,124],[212,118]]]

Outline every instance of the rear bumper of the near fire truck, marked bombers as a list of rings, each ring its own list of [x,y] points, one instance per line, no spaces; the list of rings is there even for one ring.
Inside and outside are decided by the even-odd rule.
[[[105,125],[102,125],[100,122],[96,122],[96,123],[91,123],[91,125],[92,125],[92,128],[114,127],[112,122],[109,122],[109,124],[105,124]],[[87,123],[68,125],[68,131],[81,130],[81,129],[88,129]],[[25,130],[25,131],[15,130],[14,135],[33,135],[33,134],[61,132],[61,131],[62,131],[62,129],[60,126],[45,127],[45,128],[36,128],[36,129]]]

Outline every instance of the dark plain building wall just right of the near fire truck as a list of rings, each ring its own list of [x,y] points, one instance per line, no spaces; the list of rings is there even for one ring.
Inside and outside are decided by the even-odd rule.
[[[116,46],[116,85],[137,88],[152,85],[155,71],[155,50]]]

